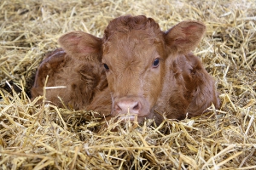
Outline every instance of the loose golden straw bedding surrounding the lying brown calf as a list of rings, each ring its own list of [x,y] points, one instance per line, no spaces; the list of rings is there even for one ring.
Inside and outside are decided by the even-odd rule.
[[[2,0],[0,169],[256,168],[255,8],[254,0]],[[122,14],[145,14],[164,31],[203,21],[207,33],[195,54],[217,81],[221,108],[160,126],[104,126],[96,112],[29,99],[33,75],[58,37],[73,30],[102,37]]]

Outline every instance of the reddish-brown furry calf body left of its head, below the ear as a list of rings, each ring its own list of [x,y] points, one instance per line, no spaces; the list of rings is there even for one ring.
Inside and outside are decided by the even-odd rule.
[[[96,56],[76,59],[65,52],[53,52],[38,68],[32,98],[43,95],[45,77],[49,75],[46,100],[54,105],[81,110],[90,104],[94,95],[108,87],[105,72]],[[59,59],[60,58],[60,59]],[[44,73],[44,74],[43,74]],[[57,87],[65,88],[57,88]]]

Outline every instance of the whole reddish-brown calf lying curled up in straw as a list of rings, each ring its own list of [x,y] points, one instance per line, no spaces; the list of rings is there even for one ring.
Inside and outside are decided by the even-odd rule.
[[[42,95],[44,80],[50,89],[46,98],[57,99],[74,109],[142,122],[198,116],[218,95],[212,77],[190,53],[201,41],[206,27],[198,21],[183,21],[169,31],[151,18],[130,15],[112,20],[102,39],[72,31],[59,42],[63,49],[39,66],[32,96]],[[105,70],[105,71],[103,71]],[[106,79],[107,78],[107,79]],[[160,114],[158,114],[160,113]]]

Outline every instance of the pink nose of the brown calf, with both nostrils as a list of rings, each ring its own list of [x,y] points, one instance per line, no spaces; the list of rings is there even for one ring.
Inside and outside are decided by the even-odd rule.
[[[127,100],[119,101],[115,105],[115,111],[119,112],[119,114],[127,114],[128,108],[131,114],[138,114],[141,110],[141,105],[137,101],[127,101]]]

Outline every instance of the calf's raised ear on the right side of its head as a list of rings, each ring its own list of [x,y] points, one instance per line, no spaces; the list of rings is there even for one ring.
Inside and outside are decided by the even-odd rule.
[[[206,31],[198,21],[183,21],[165,32],[166,45],[172,53],[188,53],[194,50]]]

